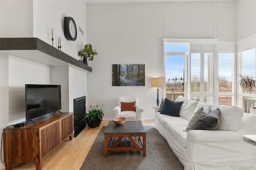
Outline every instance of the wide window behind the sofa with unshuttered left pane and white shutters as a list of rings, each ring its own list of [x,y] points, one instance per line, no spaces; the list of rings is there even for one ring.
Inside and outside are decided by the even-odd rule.
[[[182,42],[182,43],[181,43]],[[192,40],[192,39],[164,39],[164,54],[166,62],[166,97],[175,100],[174,89],[178,90],[177,82],[180,76],[170,76],[171,72],[183,72],[184,96],[192,100],[214,104],[215,81],[215,50],[216,40]],[[181,48],[181,47],[186,48]],[[188,48],[189,47],[189,48]],[[184,58],[180,65],[183,70],[169,66],[168,58],[173,57],[172,63]],[[181,82],[182,83],[182,82]],[[174,88],[170,87],[174,84]],[[175,86],[176,84],[176,86]],[[171,95],[169,93],[172,93]],[[169,96],[168,96],[169,95]],[[172,98],[174,96],[174,98]]]

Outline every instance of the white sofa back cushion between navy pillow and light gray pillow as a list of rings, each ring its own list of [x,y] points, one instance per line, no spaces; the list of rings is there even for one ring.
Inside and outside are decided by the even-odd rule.
[[[188,99],[184,98],[183,96],[178,96],[176,101],[182,101],[183,102],[183,104],[180,108],[180,116],[182,118],[185,118],[186,120],[190,120],[198,102],[196,102],[194,100],[188,100]]]

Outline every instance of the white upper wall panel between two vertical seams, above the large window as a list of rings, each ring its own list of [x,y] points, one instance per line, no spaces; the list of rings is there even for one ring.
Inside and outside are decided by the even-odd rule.
[[[164,38],[213,38],[213,2],[164,3]]]

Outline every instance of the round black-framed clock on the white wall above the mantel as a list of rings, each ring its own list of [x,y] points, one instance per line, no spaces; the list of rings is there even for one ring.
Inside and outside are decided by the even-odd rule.
[[[64,36],[67,40],[76,40],[77,30],[74,19],[70,16],[64,17]]]

